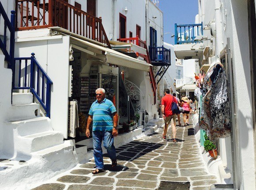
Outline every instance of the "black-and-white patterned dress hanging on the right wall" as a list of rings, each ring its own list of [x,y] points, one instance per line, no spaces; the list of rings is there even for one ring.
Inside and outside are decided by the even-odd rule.
[[[207,132],[213,142],[230,136],[226,74],[221,63],[212,66],[204,77],[200,128]]]

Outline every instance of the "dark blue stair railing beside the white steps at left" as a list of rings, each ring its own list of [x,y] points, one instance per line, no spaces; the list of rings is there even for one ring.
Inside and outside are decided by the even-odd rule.
[[[50,117],[52,80],[34,57],[14,58],[13,89],[30,89]]]

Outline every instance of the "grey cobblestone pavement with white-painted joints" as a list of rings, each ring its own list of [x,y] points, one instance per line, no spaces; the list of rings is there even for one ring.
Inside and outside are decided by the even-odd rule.
[[[33,190],[154,190],[160,181],[190,182],[190,190],[210,190],[216,177],[207,172],[201,160],[192,121],[186,127],[177,126],[177,143],[170,137],[171,128],[167,139],[162,139],[162,132],[159,128],[117,148],[114,169],[105,154],[105,172],[91,174],[92,159]]]

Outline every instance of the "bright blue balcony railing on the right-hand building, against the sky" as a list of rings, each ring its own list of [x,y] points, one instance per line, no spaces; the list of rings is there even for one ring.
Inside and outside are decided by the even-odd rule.
[[[194,43],[197,36],[203,35],[203,22],[200,24],[175,24],[175,44]]]

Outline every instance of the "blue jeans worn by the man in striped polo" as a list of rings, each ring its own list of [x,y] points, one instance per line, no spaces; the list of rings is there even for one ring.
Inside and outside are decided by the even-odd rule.
[[[93,149],[94,160],[97,169],[104,169],[103,156],[102,156],[102,139],[103,146],[107,150],[111,160],[116,160],[116,148],[114,146],[114,138],[112,131],[93,131]]]

